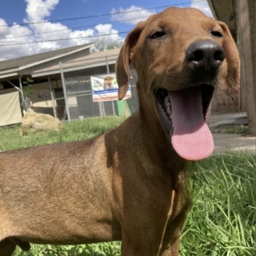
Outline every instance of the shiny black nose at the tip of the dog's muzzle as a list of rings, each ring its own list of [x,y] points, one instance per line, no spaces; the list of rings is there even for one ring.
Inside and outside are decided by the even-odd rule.
[[[225,59],[221,45],[210,40],[192,43],[186,52],[186,60],[193,69],[211,71],[217,69]]]

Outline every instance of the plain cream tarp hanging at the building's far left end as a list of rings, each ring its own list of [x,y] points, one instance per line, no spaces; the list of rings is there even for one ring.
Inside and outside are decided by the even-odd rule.
[[[21,123],[19,92],[0,94],[0,126]]]

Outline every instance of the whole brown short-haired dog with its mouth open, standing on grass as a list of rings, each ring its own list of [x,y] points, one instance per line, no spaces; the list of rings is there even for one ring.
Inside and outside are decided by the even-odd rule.
[[[227,26],[169,8],[127,36],[119,99],[138,73],[139,111],[98,138],[0,154],[0,255],[29,242],[122,239],[122,255],[179,252],[189,208],[188,160],[209,156],[214,87],[239,95],[239,59]]]

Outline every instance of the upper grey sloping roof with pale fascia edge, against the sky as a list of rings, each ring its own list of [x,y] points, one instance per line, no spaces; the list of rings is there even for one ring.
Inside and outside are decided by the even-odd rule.
[[[76,52],[89,49],[93,45],[93,43],[77,45],[55,51],[43,52],[15,59],[0,61],[0,78],[13,76],[16,72],[22,69],[34,67],[51,60],[66,57]]]

